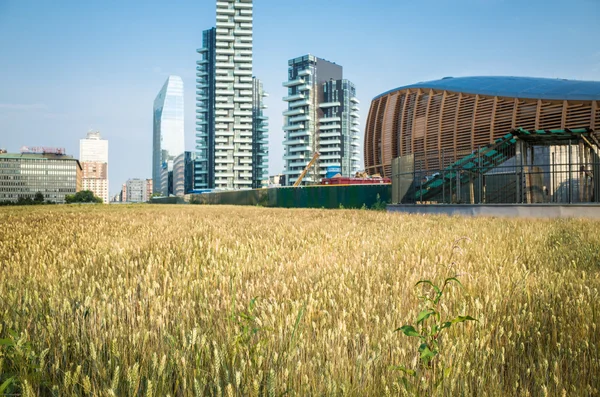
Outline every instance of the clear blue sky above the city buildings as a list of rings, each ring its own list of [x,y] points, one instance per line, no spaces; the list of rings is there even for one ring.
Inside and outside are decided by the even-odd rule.
[[[270,174],[283,167],[287,60],[344,66],[364,126],[371,99],[444,76],[600,80],[600,0],[255,0],[254,74],[270,93]],[[109,139],[110,191],[150,177],[152,103],[169,74],[186,90],[194,147],[195,63],[214,0],[0,0],[0,147]]]

